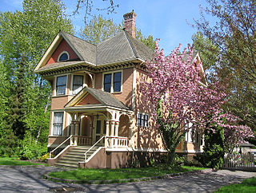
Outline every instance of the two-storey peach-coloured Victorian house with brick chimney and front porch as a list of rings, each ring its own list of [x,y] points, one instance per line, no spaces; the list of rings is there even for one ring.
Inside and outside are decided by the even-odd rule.
[[[128,167],[166,152],[141,105],[139,80],[154,52],[135,39],[135,18],[134,12],[125,14],[126,28],[98,45],[60,31],[34,69],[52,87],[48,163]],[[177,148],[198,151],[200,139],[192,132]]]

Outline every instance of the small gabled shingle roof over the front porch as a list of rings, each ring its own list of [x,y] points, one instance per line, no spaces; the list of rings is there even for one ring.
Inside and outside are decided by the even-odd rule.
[[[87,93],[90,93],[96,100],[98,100],[104,106],[110,106],[115,108],[122,108],[126,110],[130,110],[130,108],[126,107],[120,100],[116,99],[112,94],[106,93],[102,90],[92,89],[89,87],[83,88],[72,100],[70,100],[66,105],[65,108],[73,107],[74,104],[78,104],[80,100]]]

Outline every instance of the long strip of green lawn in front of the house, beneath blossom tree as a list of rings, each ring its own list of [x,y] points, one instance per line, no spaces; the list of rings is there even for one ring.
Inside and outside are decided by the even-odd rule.
[[[141,168],[122,168],[122,169],[77,169],[73,171],[56,171],[49,175],[59,179],[76,180],[114,180],[114,179],[138,179],[142,177],[151,177],[166,175],[184,171],[195,171],[205,169],[203,167],[182,166],[177,169],[171,169],[164,165],[156,167]]]

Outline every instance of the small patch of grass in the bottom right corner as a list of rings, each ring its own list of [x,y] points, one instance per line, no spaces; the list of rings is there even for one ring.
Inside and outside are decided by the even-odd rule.
[[[256,177],[242,180],[242,183],[230,184],[215,192],[256,192]]]

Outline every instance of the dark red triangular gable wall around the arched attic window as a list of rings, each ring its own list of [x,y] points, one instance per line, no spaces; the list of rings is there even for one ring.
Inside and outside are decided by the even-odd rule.
[[[50,57],[49,61],[47,61],[46,65],[50,65],[50,64],[58,62],[59,55],[64,51],[69,53],[69,56],[70,56],[69,60],[77,59],[80,61],[78,55],[74,52],[74,50],[70,47],[70,45],[66,42],[66,40],[62,39],[62,41],[58,45],[57,49],[55,49],[54,53]]]

